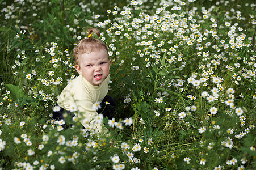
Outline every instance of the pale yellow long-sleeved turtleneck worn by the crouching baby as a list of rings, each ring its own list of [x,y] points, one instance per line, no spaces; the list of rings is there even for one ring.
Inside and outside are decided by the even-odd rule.
[[[88,124],[83,121],[87,118],[89,122],[93,121],[93,118],[98,114],[93,109],[93,104],[97,101],[100,103],[107,95],[108,83],[110,82],[110,75],[99,86],[93,86],[82,75],[75,78],[72,83],[69,83],[58,97],[57,104],[70,111],[72,105],[77,106],[77,110],[81,112],[78,115],[81,124],[86,128]],[[106,129],[102,130],[102,125],[95,124],[96,133],[106,133]]]

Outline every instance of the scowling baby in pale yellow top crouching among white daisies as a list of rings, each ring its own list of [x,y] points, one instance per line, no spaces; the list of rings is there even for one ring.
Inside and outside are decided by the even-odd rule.
[[[75,47],[75,70],[79,76],[61,92],[56,104],[61,109],[53,112],[53,118],[61,120],[65,111],[72,114],[70,111],[77,107],[81,112],[78,118],[85,128],[99,113],[109,119],[114,117],[116,106],[115,100],[107,95],[111,65],[108,47],[103,41],[93,38],[93,32],[100,37],[98,29],[88,28],[88,38],[79,41]],[[95,123],[95,127],[95,133],[106,132],[102,124]]]

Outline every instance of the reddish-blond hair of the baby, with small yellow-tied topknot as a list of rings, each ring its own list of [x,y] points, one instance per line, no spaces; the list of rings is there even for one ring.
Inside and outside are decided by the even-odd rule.
[[[78,42],[77,46],[74,49],[73,55],[75,58],[75,64],[79,65],[79,58],[84,53],[91,53],[93,50],[100,50],[100,49],[106,49],[107,55],[108,55],[108,47],[107,45],[99,39],[95,39],[92,36],[92,33],[96,33],[98,37],[100,37],[99,29],[97,28],[88,28],[87,34],[89,35],[88,38],[85,38]],[[109,58],[109,56],[108,56]]]

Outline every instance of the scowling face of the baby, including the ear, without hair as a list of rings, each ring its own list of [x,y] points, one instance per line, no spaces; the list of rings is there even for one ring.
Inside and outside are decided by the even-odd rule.
[[[75,70],[93,86],[99,86],[110,73],[110,65],[107,50],[99,49],[88,54],[83,53],[79,58],[79,65],[75,65]]]

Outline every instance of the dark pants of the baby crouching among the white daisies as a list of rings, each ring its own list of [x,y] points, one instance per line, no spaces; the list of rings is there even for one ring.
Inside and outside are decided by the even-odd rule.
[[[106,104],[107,103],[107,104]],[[58,106],[58,104],[56,103]],[[112,119],[115,116],[115,108],[116,108],[116,103],[115,100],[111,97],[106,95],[104,99],[102,100],[102,103],[100,103],[101,108],[98,109],[97,113],[98,114],[103,114],[103,117],[107,117],[108,119]],[[60,111],[54,112],[53,111],[53,116],[52,118],[56,121],[59,120],[65,120],[63,117],[63,114],[67,113],[69,117],[74,117],[74,113],[70,111],[66,111],[64,108],[61,108]],[[69,125],[66,123],[62,125],[63,128],[67,129],[69,128]]]

